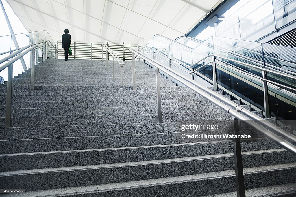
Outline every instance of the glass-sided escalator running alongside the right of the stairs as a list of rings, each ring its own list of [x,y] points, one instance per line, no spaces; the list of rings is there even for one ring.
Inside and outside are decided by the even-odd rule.
[[[191,77],[195,81],[213,84],[213,66],[207,65],[212,57],[215,61],[218,88],[252,105],[254,110],[264,111],[262,69],[267,69],[268,101],[271,116],[278,120],[296,120],[296,48],[265,43],[211,37],[202,42],[194,38],[178,37],[170,40],[155,35],[145,45],[146,53],[159,61]],[[157,51],[157,52],[156,52]],[[197,61],[205,58],[203,61]],[[187,72],[186,72],[187,71]],[[295,121],[294,121],[295,122]],[[296,129],[296,125],[293,126]]]

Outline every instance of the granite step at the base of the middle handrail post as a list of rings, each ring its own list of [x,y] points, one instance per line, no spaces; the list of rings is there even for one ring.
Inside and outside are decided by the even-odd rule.
[[[182,122],[194,120],[230,120],[231,115],[222,113],[178,113],[162,114],[163,122]],[[0,125],[4,127],[5,118],[0,118]],[[13,117],[12,127],[31,126],[70,126],[124,123],[156,123],[157,114],[136,115],[97,115],[97,116],[53,116],[53,117]]]

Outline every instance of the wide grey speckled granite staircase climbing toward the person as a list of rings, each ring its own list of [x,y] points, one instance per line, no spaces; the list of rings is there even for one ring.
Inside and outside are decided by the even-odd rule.
[[[124,86],[115,68],[113,80],[112,61],[49,59],[35,67],[35,90],[30,70],[15,76],[12,128],[0,85],[0,188],[25,191],[4,196],[236,196],[232,141],[180,138],[196,133],[181,124],[231,116],[162,77],[158,123],[155,69],[136,62],[133,91],[131,62]],[[295,196],[296,157],[256,135],[242,143],[247,196]]]

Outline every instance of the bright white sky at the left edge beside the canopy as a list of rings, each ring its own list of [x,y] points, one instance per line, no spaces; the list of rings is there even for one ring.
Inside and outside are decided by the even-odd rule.
[[[6,14],[9,18],[10,24],[12,26],[12,29],[14,31],[15,34],[20,34],[20,33],[25,33],[28,32],[24,25],[22,25],[22,23],[20,22],[20,20],[17,18],[17,16],[15,15],[15,13],[12,11],[12,9],[10,8],[9,4],[7,4],[6,0],[1,0],[2,4],[4,6],[4,9],[6,11]],[[6,52],[6,51],[10,51],[15,49],[15,45],[12,41],[12,46],[10,49],[10,36],[5,36],[5,35],[11,35],[9,28],[7,26],[7,22],[6,19],[4,17],[3,11],[0,8],[0,27],[1,27],[1,31],[0,31],[0,53]],[[26,46],[29,44],[28,42],[28,37],[25,35],[17,35],[17,42],[19,44],[20,47]],[[9,54],[5,54],[5,55],[1,55],[0,59],[6,57]],[[28,63],[28,59],[29,59],[29,55],[25,55],[24,56],[24,60],[26,63],[26,66],[29,67],[29,63]],[[5,64],[6,62],[4,62],[3,64]],[[3,65],[1,64],[1,65]],[[22,73],[23,69],[22,69],[22,64],[20,63],[20,60],[16,61],[13,64],[13,75],[17,76],[18,73]],[[3,71],[0,72],[0,76],[4,77],[4,80],[7,80],[7,69],[4,69]]]

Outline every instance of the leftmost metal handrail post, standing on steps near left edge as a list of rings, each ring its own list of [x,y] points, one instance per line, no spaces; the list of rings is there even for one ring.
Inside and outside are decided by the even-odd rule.
[[[8,75],[7,75],[5,128],[11,127],[12,72],[13,72],[13,67],[12,67],[12,64],[10,64],[8,66]]]

